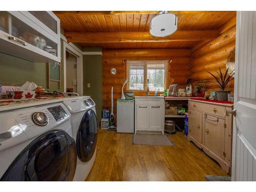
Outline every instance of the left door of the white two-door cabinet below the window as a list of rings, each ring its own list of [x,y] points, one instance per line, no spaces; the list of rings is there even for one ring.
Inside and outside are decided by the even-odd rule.
[[[137,105],[137,130],[146,131],[150,129],[150,105]]]

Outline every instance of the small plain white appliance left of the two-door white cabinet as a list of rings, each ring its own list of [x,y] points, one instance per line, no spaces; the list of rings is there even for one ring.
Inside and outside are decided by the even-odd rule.
[[[117,133],[134,133],[134,100],[117,100]]]

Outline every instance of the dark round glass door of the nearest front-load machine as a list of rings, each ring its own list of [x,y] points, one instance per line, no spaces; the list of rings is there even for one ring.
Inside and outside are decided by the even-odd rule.
[[[54,130],[32,141],[1,181],[72,181],[76,163],[75,140],[65,131]]]

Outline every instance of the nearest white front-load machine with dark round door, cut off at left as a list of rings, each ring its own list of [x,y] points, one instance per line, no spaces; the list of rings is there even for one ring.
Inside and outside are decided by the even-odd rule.
[[[70,117],[61,102],[0,112],[0,180],[72,181],[77,150]]]

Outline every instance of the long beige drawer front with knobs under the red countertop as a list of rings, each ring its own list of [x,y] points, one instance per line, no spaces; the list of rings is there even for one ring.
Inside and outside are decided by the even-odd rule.
[[[217,115],[220,117],[225,117],[225,106],[218,106],[214,104],[205,104],[195,101],[188,102],[188,108],[203,111],[212,115]]]

